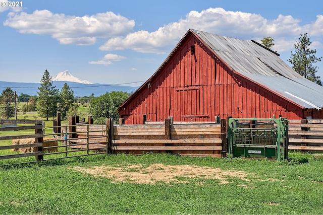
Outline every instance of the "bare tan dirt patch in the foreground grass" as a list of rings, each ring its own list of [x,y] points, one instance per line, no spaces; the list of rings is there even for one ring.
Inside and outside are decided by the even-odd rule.
[[[167,166],[164,164],[131,165],[131,166],[97,166],[73,167],[74,170],[94,176],[107,177],[114,182],[130,182],[155,184],[158,181],[165,183],[186,183],[185,178],[217,179],[220,183],[229,183],[228,178],[237,177],[245,181],[248,174],[244,171],[221,170],[212,167],[199,167],[190,165]]]

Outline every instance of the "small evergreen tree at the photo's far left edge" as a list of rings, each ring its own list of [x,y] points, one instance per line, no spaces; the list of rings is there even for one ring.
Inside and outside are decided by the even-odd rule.
[[[15,102],[15,92],[11,88],[6,88],[1,96],[1,115],[9,119],[15,115],[15,107],[12,106],[12,103]]]

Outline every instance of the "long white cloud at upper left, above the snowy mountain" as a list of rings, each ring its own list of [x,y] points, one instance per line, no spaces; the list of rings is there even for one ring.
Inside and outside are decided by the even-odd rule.
[[[97,37],[111,38],[133,31],[135,22],[113,12],[92,16],[67,16],[53,14],[48,10],[9,13],[5,26],[20,33],[51,35],[61,44],[91,45]]]

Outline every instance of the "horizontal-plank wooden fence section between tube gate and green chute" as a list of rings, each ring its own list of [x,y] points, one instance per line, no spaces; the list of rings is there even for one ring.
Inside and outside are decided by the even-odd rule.
[[[173,122],[114,125],[112,153],[172,153],[186,156],[222,156],[221,124]]]

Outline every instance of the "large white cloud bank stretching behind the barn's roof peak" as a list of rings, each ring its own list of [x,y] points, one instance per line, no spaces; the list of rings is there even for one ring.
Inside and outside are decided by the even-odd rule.
[[[197,29],[228,37],[251,40],[270,36],[275,39],[275,48],[290,50],[295,37],[304,32],[322,35],[323,16],[317,16],[315,23],[300,26],[300,20],[292,16],[279,15],[275,20],[267,20],[258,14],[226,11],[222,8],[209,8],[197,12],[191,11],[185,19],[160,27],[154,32],[138,31],[125,37],[119,36],[107,40],[99,47],[103,51],[132,49],[141,53],[164,54],[165,47],[174,46],[188,31]],[[282,43],[280,42],[282,41]],[[288,41],[288,43],[284,43]],[[293,42],[291,42],[293,41]]]

